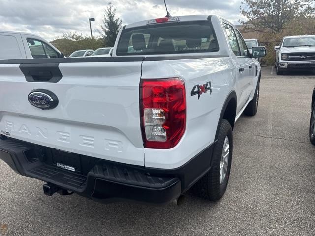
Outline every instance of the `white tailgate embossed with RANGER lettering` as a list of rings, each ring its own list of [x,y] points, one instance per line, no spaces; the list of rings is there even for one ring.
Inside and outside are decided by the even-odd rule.
[[[64,59],[66,60],[66,59]],[[46,60],[47,61],[47,60]],[[63,151],[144,165],[139,118],[142,61],[0,64],[1,134]],[[25,71],[58,69],[58,82],[27,81]],[[38,74],[38,73],[37,73]],[[45,89],[58,98],[51,110],[28,96]]]

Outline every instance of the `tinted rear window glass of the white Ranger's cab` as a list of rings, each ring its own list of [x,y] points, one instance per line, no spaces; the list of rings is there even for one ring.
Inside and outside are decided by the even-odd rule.
[[[217,51],[219,45],[211,22],[193,21],[124,29],[116,54],[124,56]]]

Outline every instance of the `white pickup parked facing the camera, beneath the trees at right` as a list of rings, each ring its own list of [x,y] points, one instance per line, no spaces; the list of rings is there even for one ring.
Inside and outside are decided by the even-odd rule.
[[[287,70],[314,70],[315,35],[284,37],[275,47],[277,75]]]

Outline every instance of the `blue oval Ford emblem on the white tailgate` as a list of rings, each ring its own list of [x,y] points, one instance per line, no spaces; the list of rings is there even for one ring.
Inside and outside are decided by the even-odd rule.
[[[29,102],[37,108],[48,110],[57,107],[57,96],[46,89],[35,89],[28,96]]]

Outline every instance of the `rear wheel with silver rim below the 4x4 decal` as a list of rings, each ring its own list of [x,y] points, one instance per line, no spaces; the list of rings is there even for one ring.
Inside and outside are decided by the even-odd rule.
[[[230,177],[232,153],[232,127],[223,119],[218,141],[213,150],[213,165],[210,171],[194,185],[195,193],[211,201],[217,201],[224,195]]]

